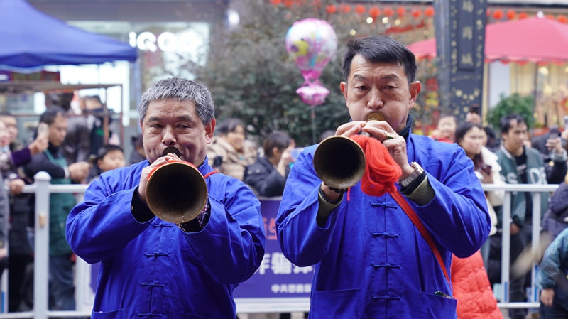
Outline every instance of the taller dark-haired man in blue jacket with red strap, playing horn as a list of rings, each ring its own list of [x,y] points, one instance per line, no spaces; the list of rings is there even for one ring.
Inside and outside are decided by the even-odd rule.
[[[491,228],[474,165],[457,144],[410,132],[420,82],[404,45],[386,36],[352,40],[343,70],[352,121],[335,134],[364,131],[383,141],[402,175],[392,193],[366,195],[361,183],[344,193],[315,173],[317,146],[300,154],[276,225],[283,254],[315,265],[309,316],[457,318],[452,254],[474,254]]]

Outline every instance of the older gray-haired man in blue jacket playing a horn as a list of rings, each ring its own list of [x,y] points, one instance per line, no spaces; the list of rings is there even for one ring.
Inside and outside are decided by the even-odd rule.
[[[91,318],[235,318],[233,290],[260,265],[265,234],[251,190],[207,163],[211,94],[190,80],[161,80],[138,109],[148,161],[103,173],[67,219],[73,251],[102,263]],[[208,198],[199,217],[175,225],[148,208],[146,184],[179,160],[207,176]]]

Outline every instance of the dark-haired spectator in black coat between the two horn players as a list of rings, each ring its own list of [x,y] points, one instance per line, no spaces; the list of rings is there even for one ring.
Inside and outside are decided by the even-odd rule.
[[[247,166],[244,183],[259,196],[282,196],[290,173],[294,143],[287,134],[274,132],[264,141],[264,156]]]

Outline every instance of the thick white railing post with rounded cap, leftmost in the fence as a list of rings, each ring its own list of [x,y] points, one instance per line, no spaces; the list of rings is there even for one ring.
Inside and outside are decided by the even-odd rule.
[[[48,173],[33,176],[35,189],[35,248],[33,263],[33,319],[48,318],[49,303],[49,185]]]

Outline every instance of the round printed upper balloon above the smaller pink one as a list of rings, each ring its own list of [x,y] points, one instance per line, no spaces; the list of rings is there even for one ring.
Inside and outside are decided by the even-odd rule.
[[[307,18],[286,33],[286,50],[304,78],[316,80],[337,50],[337,36],[327,21]]]

